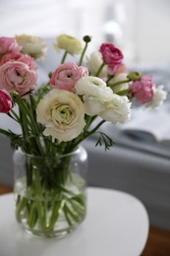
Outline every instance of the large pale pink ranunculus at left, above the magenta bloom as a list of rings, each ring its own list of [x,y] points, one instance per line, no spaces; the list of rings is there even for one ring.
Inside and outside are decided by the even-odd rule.
[[[0,87],[6,91],[15,91],[23,96],[32,90],[36,90],[37,74],[30,70],[26,63],[20,61],[8,61],[0,66]]]

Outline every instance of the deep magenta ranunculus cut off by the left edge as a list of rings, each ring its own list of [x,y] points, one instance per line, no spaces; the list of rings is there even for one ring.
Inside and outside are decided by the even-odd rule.
[[[10,94],[5,89],[0,88],[0,112],[8,113],[13,108],[13,105],[13,99]]]

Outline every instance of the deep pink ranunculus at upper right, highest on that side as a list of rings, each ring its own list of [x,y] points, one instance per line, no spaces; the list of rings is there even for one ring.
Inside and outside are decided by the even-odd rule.
[[[99,51],[102,54],[104,64],[117,65],[121,64],[124,55],[113,43],[102,43]]]

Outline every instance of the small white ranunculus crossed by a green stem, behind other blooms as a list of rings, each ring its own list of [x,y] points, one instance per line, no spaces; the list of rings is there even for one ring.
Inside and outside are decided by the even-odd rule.
[[[120,73],[118,76],[112,78],[110,81],[109,81],[109,86],[112,86],[116,83],[119,83],[121,81],[126,81],[128,78],[127,78],[127,75],[126,73]],[[123,84],[120,84],[120,85],[117,85],[115,87],[112,87],[112,90],[113,92],[116,94],[118,92],[121,92],[121,91],[124,91],[124,90],[127,90],[129,89],[129,83],[123,83]]]

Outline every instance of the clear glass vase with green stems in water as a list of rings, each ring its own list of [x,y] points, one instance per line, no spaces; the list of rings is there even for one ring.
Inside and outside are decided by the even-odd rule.
[[[62,237],[85,220],[87,154],[34,157],[14,154],[16,219],[29,233]]]

